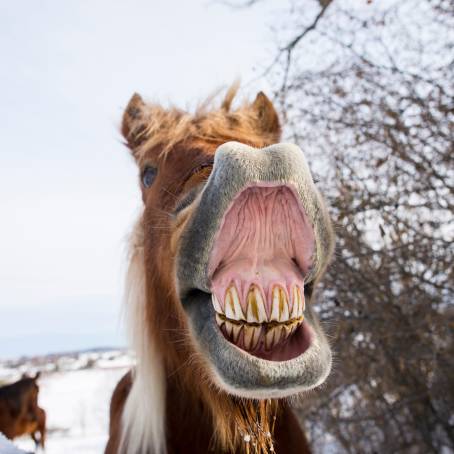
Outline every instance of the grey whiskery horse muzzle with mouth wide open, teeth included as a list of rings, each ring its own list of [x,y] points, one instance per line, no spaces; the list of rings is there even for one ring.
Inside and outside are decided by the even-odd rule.
[[[177,282],[215,381],[256,398],[320,384],[331,352],[308,302],[333,235],[303,152],[228,142],[193,203]]]

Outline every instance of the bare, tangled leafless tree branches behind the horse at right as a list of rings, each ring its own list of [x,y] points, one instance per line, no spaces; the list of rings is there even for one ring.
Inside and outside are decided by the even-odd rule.
[[[253,7],[260,7],[260,2]],[[299,1],[276,86],[337,220],[318,309],[337,352],[316,451],[454,450],[454,5]]]

